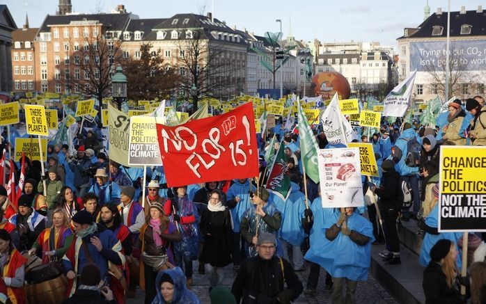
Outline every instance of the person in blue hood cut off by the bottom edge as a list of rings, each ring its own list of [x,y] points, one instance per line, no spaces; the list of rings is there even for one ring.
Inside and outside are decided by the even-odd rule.
[[[152,304],[199,304],[198,297],[186,287],[186,280],[182,269],[175,267],[157,274],[155,278],[155,296]]]

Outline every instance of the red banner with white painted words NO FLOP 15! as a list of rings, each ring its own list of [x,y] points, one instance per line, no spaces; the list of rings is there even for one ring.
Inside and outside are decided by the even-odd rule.
[[[157,124],[157,138],[168,186],[258,176],[251,102],[183,125]]]

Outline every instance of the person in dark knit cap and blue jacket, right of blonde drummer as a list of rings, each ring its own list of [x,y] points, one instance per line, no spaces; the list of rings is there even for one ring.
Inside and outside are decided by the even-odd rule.
[[[68,278],[68,296],[77,289],[77,275],[88,263],[94,263],[100,268],[102,279],[109,285],[108,262],[116,265],[125,263],[122,246],[110,230],[102,230],[93,223],[93,216],[86,210],[81,210],[72,217],[76,235],[65,253],[62,264]]]

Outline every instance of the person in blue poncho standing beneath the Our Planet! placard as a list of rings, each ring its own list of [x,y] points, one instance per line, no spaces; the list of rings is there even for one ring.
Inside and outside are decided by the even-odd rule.
[[[325,232],[329,243],[322,246],[321,262],[334,281],[333,303],[355,303],[357,281],[368,278],[370,246],[375,240],[373,227],[370,221],[357,214],[354,209],[346,207],[338,221]],[[343,298],[343,285],[347,289],[346,298]]]

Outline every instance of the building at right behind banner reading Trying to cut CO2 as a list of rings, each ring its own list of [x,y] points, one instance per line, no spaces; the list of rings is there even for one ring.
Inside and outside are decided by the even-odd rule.
[[[425,6],[424,16],[430,8]],[[414,28],[405,28],[398,38],[400,79],[417,70],[414,95],[417,102],[439,95],[445,98],[446,37],[448,13],[441,8]],[[486,11],[450,12],[450,51],[448,97],[466,99],[485,94]]]

